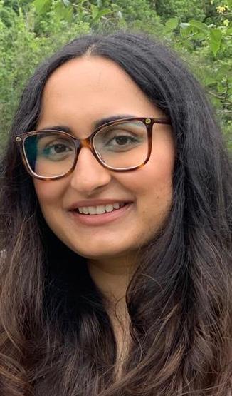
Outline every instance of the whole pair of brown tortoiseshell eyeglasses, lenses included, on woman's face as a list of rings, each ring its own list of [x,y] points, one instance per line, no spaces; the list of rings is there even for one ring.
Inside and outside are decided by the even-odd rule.
[[[124,172],[141,168],[149,161],[154,123],[170,121],[122,118],[105,123],[86,139],[52,129],[22,133],[15,139],[26,170],[33,178],[53,180],[67,176],[74,170],[82,147],[89,148],[105,168]]]

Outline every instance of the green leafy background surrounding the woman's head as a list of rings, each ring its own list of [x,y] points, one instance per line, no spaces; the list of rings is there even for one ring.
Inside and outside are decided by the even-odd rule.
[[[232,151],[232,0],[0,0],[0,149],[36,66],[91,31],[144,31],[206,88]]]

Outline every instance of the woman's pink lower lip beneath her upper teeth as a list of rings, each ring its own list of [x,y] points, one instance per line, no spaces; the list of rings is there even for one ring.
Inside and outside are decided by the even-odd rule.
[[[75,212],[74,210],[70,211],[70,214],[77,223],[82,223],[85,225],[104,225],[122,218],[122,216],[126,215],[126,213],[132,208],[132,206],[133,203],[130,202],[120,209],[113,210],[112,212],[108,213],[103,213],[102,215],[83,215]]]

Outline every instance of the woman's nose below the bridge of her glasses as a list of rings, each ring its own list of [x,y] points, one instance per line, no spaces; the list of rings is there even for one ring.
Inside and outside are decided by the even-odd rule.
[[[97,188],[110,183],[110,170],[101,165],[87,147],[80,148],[78,161],[71,173],[70,186],[88,196]]]

